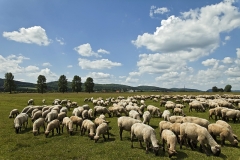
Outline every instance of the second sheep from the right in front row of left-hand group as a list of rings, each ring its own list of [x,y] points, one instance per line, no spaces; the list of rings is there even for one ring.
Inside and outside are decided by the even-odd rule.
[[[93,139],[94,135],[95,135],[95,131],[96,131],[96,126],[95,124],[91,121],[91,120],[88,120],[88,119],[85,119],[83,122],[82,122],[82,126],[81,126],[81,135],[84,135],[85,132],[89,133],[88,136]]]

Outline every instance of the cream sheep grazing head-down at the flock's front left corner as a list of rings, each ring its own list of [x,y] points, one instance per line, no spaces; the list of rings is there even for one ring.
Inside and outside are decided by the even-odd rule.
[[[14,119],[14,128],[15,128],[15,132],[19,133],[19,131],[21,131],[22,125],[25,127],[25,129],[27,128],[27,124],[28,124],[28,114],[26,113],[20,113],[19,115],[17,115],[17,117],[15,117]]]

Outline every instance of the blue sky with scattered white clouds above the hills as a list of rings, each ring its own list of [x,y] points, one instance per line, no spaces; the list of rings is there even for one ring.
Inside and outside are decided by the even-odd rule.
[[[240,89],[240,0],[1,0],[0,78]]]

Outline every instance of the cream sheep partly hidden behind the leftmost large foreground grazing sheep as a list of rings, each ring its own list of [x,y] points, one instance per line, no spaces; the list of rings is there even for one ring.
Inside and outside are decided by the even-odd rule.
[[[142,123],[142,121],[131,118],[131,117],[126,117],[126,116],[122,116],[122,117],[118,118],[118,128],[119,128],[120,140],[122,140],[123,130],[130,132],[131,127],[134,123]]]

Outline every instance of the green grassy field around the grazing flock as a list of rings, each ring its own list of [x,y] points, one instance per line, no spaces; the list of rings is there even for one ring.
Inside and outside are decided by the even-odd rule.
[[[84,98],[88,97],[117,97],[119,95],[127,97],[131,95],[161,95],[162,93],[21,93],[21,94],[7,94],[0,93],[0,109],[1,109],[1,121],[0,121],[0,159],[2,160],[31,160],[31,159],[44,159],[44,160],[70,160],[70,159],[81,159],[81,160],[92,160],[92,159],[109,159],[109,160],[147,160],[147,159],[169,159],[168,154],[160,151],[159,156],[155,156],[153,153],[145,154],[145,148],[140,148],[139,143],[136,141],[134,143],[134,148],[131,148],[130,135],[128,132],[123,132],[123,141],[119,139],[119,130],[117,127],[117,117],[108,118],[110,121],[110,139],[108,141],[103,141],[103,138],[97,143],[90,140],[87,135],[80,136],[80,132],[75,131],[73,136],[69,136],[64,128],[64,133],[57,135],[55,132],[54,136],[45,138],[43,128],[40,129],[40,135],[33,136],[32,133],[32,122],[29,119],[28,128],[23,130],[20,134],[16,134],[13,128],[13,118],[9,119],[9,112],[17,108],[20,111],[27,106],[27,101],[33,98],[35,105],[42,105],[42,99],[46,99],[46,104],[51,104],[55,98],[59,99],[70,99],[72,101],[78,102],[79,105],[86,104],[83,102]],[[166,93],[164,93],[166,94]],[[186,94],[186,93],[167,93],[167,94]],[[199,94],[199,93],[188,93],[188,94]],[[159,102],[153,102],[152,100],[147,100],[145,102],[147,105],[152,104],[159,106]],[[88,103],[91,108],[93,105]],[[164,108],[160,107],[163,111]],[[198,116],[208,119],[208,112],[197,113],[188,112],[188,107],[184,109],[188,116]],[[68,112],[68,116],[71,115]],[[159,132],[158,123],[162,118],[152,118],[150,125]],[[215,122],[210,120],[211,123]],[[239,123],[234,124],[230,122],[233,131],[240,137],[240,127]],[[159,134],[157,134],[158,139]],[[219,138],[218,138],[219,140]],[[220,143],[220,141],[218,141]],[[145,144],[144,144],[145,146]],[[179,148],[177,145],[176,156],[171,159],[229,159],[229,160],[240,160],[240,150],[239,147],[232,147],[228,141],[226,145],[222,147],[222,153],[219,157],[209,156],[207,157],[205,153],[199,152],[199,150],[192,151],[190,148],[183,146],[183,149]]]

